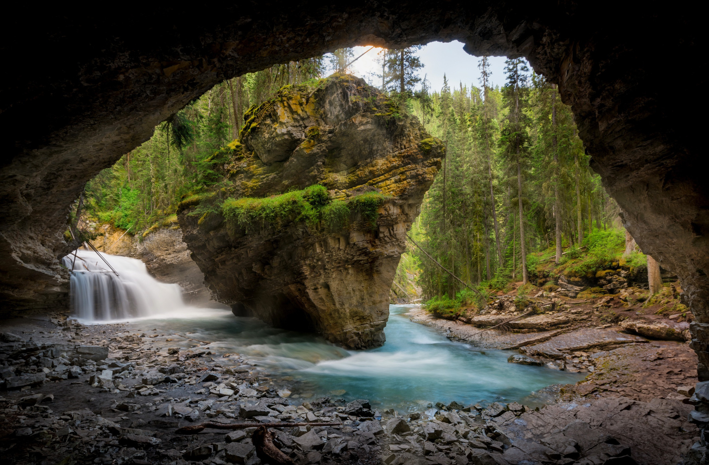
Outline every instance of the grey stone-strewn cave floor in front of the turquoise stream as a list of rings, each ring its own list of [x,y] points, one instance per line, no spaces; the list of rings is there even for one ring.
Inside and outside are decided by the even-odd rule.
[[[414,413],[376,411],[365,399],[300,403],[242,355],[216,357],[208,341],[187,334],[127,329],[61,315],[6,322],[0,447],[12,463],[258,464],[252,435],[276,422],[332,423],[271,428],[274,445],[301,464],[674,464],[682,454],[703,453],[686,420],[692,407],[680,400],[693,386],[640,399],[610,389],[584,394],[583,381],[542,408],[452,402]],[[153,345],[156,338],[167,345]],[[665,360],[684,357],[635,341],[608,357],[651,346],[660,371]],[[591,366],[599,380],[618,372]],[[250,425],[176,432],[205,421]]]

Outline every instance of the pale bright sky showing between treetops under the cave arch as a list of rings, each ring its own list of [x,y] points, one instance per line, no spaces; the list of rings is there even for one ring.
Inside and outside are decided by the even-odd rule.
[[[369,47],[354,47],[354,57],[359,57],[368,49]],[[352,74],[366,79],[369,84],[376,87],[381,86],[381,79],[373,75],[375,73],[381,74],[381,62],[376,63],[376,59],[380,59],[381,56],[377,54],[378,52],[381,52],[381,48],[370,50],[350,67]],[[443,87],[443,74],[448,78],[448,85],[451,87],[457,87],[461,82],[468,88],[481,86],[480,70],[478,69],[480,59],[464,52],[461,42],[430,42],[416,54],[424,65],[418,70],[419,76],[422,79],[423,76],[426,76],[432,91],[440,91]],[[505,60],[506,57],[490,57],[492,86],[505,84],[505,74],[503,73]]]

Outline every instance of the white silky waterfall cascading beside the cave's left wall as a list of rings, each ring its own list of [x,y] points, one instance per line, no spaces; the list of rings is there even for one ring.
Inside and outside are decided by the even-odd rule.
[[[111,271],[104,258],[118,273]],[[164,284],[147,273],[145,263],[135,258],[92,251],[77,251],[63,258],[74,270],[71,299],[74,314],[85,321],[128,320],[183,309],[182,288]]]

